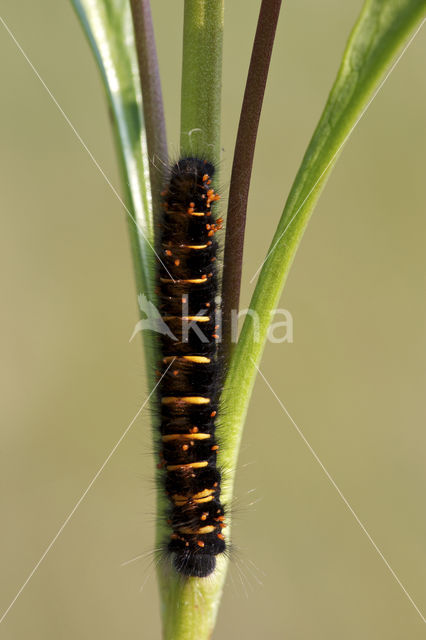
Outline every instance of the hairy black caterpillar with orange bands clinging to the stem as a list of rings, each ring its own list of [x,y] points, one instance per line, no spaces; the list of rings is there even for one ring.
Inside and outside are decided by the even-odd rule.
[[[215,233],[222,227],[211,186],[214,167],[183,158],[161,194],[158,296],[171,335],[161,336],[160,467],[171,502],[168,551],[178,573],[206,577],[225,551],[215,438],[220,388]],[[168,333],[168,332],[167,332]]]

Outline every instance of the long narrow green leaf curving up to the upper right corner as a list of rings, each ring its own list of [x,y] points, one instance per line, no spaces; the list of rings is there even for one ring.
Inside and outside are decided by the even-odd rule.
[[[235,470],[242,428],[271,313],[275,309],[309,217],[337,156],[380,87],[392,59],[426,13],[425,0],[367,0],[350,35],[337,79],[297,173],[272,240],[251,309],[231,359],[222,400],[227,408],[219,464]],[[232,498],[233,473],[224,500]]]

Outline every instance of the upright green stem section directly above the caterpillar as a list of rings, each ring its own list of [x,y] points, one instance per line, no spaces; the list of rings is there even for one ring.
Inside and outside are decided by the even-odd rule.
[[[181,155],[220,160],[224,0],[185,0]]]

